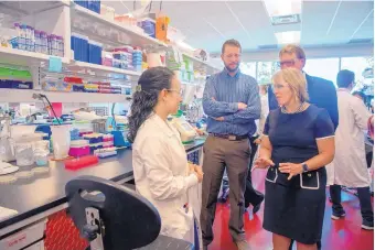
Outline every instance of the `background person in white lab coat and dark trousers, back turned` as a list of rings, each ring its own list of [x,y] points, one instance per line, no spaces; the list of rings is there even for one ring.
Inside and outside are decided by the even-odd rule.
[[[374,229],[374,213],[369,194],[369,174],[365,155],[367,123],[374,117],[363,101],[351,95],[355,75],[350,70],[338,74],[339,127],[335,133],[335,156],[333,160],[333,183],[331,183],[332,219],[345,216],[341,205],[341,185],[356,187],[361,204],[362,228]]]

